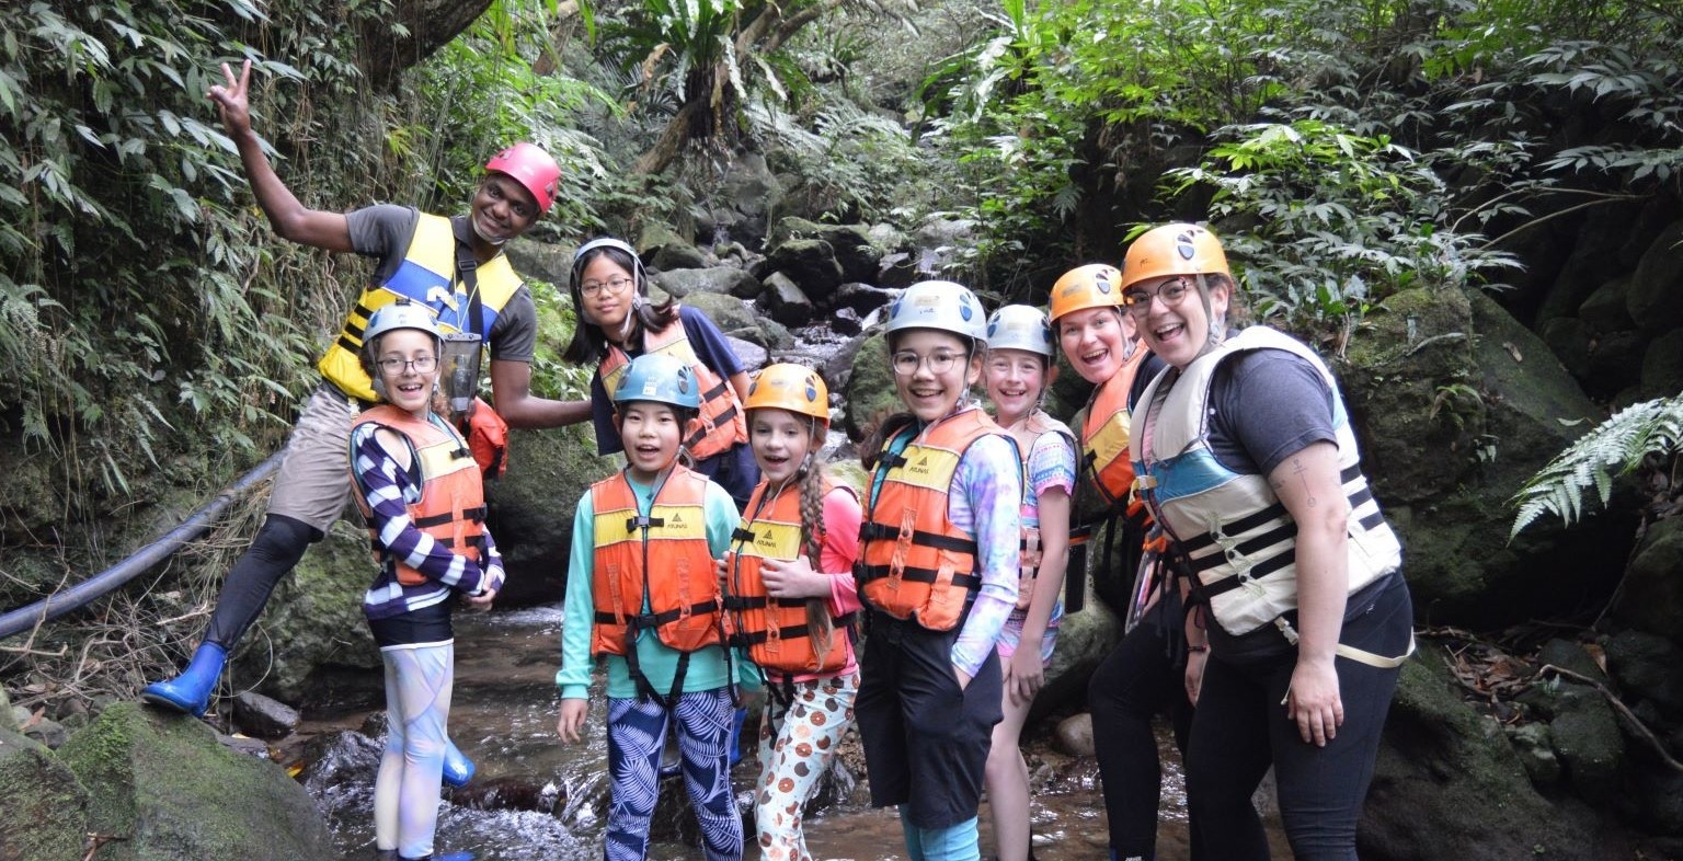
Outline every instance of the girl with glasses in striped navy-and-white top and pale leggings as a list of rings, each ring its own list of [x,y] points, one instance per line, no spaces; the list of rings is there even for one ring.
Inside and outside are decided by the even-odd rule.
[[[380,402],[350,430],[357,506],[380,565],[362,610],[385,663],[374,839],[379,858],[392,861],[433,858],[454,676],[451,599],[463,594],[483,610],[503,584],[485,528],[481,471],[433,410],[441,348],[427,308],[399,299],[375,311],[362,368]]]

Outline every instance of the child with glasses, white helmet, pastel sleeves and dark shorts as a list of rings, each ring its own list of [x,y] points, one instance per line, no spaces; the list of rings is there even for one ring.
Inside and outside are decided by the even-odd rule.
[[[1022,461],[969,397],[988,345],[969,289],[912,284],[889,306],[887,341],[907,412],[865,446],[855,580],[868,636],[855,715],[872,804],[899,806],[907,854],[976,861],[1001,718],[995,639],[1017,607]]]

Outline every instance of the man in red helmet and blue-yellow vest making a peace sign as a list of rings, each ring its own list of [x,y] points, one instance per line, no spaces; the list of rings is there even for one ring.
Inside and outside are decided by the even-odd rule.
[[[286,442],[268,520],[229,572],[192,663],[178,678],[148,684],[141,695],[150,703],[192,715],[205,711],[227,652],[263,612],[274,585],[338,520],[350,499],[345,451],[352,419],[375,400],[357,351],[375,309],[407,299],[429,308],[446,335],[476,335],[490,346],[496,412],[515,427],[562,424],[562,404],[530,392],[537,309],[502,254],[503,242],[527,232],[554,203],[560,185],[555,160],[530,143],[496,153],[485,165],[485,180],[468,214],[453,219],[397,205],[350,214],[308,209],[274,173],[251,128],[251,62],[239,77],[227,64],[222,74],[226,82],[210,87],[207,98],[217,104],[274,232],[305,246],[374,257],[377,264],[343,330],[318,363],[323,380]],[[491,597],[470,604],[485,609]],[[466,782],[470,775],[471,763],[453,757],[446,780]]]

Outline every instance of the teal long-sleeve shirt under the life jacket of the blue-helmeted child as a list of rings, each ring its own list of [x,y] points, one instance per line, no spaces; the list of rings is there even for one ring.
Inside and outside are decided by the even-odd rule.
[[[636,496],[638,511],[648,515],[655,504],[655,486],[640,484],[629,473],[621,473],[631,484]],[[702,501],[707,516],[707,547],[714,558],[724,558],[730,548],[730,533],[742,516],[737,513],[730,493],[719,484],[707,483],[707,496]],[[591,626],[594,617],[594,599],[591,594],[592,572],[596,570],[596,511],[591,504],[591,491],[584,491],[579,508],[572,515],[572,552],[567,557],[567,604],[562,609],[560,627],[560,671],[555,673],[555,684],[562,700],[586,700],[591,684]],[[660,560],[655,560],[658,565]],[[656,577],[660,575],[656,568]],[[645,604],[645,610],[648,605]],[[672,689],[672,676],[678,666],[678,652],[660,642],[653,631],[643,631],[636,641],[638,666],[648,676],[650,684],[665,695]],[[741,666],[741,663],[739,663]],[[702,649],[690,654],[690,668],[683,674],[685,691],[710,691],[730,683],[730,668],[725,666],[724,649]],[[608,656],[608,696],[636,698],[636,681],[626,659]]]

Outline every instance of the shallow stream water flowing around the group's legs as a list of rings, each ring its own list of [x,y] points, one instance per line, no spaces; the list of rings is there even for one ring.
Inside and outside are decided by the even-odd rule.
[[[468,787],[444,790],[439,853],[471,851],[476,861],[601,858],[608,802],[603,700],[601,691],[592,691],[587,740],[562,745],[555,737],[559,644],[559,607],[458,614],[449,725],[456,743],[478,763],[478,774]],[[360,688],[337,686],[362,693],[340,695],[335,703],[306,713],[298,733],[305,740],[300,755],[306,760],[306,787],[350,861],[374,854],[379,684],[379,678],[372,676]],[[1171,748],[1166,733],[1160,733],[1160,745]],[[1094,760],[1052,750],[1049,728],[1027,733],[1025,753],[1033,775],[1035,856],[1042,861],[1104,858],[1104,802]],[[892,811],[870,809],[863,785],[853,779],[855,772],[863,772],[857,742],[843,745],[840,760],[843,767],[830,775],[806,819],[813,856],[855,861],[904,858],[899,819]],[[1185,795],[1176,755],[1166,753],[1165,763],[1158,858],[1178,861],[1187,858]],[[746,814],[757,772],[752,753],[734,772]],[[703,858],[677,780],[663,784],[651,829],[651,859]],[[983,854],[991,856],[986,802],[981,817]],[[752,832],[751,814],[747,832]],[[1277,827],[1271,832],[1274,858],[1291,858]]]

